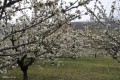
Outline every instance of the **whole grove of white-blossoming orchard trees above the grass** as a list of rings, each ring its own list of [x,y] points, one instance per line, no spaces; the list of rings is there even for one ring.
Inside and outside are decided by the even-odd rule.
[[[108,14],[101,0],[0,0],[0,72],[20,67],[23,80],[28,80],[27,70],[36,60],[75,58],[86,48],[102,49],[118,60],[120,30],[109,28],[111,22],[120,24],[117,3],[113,1]],[[93,27],[87,32],[70,25],[83,15],[99,25],[87,25]],[[100,31],[101,26],[106,29]]]

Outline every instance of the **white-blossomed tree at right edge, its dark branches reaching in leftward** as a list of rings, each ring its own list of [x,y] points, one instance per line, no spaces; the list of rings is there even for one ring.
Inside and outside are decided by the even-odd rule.
[[[110,6],[110,11],[106,11],[100,0],[95,0],[94,8],[85,5],[87,14],[91,16],[95,24],[91,24],[93,29],[89,29],[86,35],[89,39],[88,44],[91,48],[104,50],[109,53],[113,59],[119,61],[120,52],[120,5],[119,0],[114,0]],[[96,29],[95,29],[96,28]]]

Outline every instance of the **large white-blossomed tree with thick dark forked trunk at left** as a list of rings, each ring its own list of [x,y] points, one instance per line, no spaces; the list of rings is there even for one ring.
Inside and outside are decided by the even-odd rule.
[[[89,2],[76,0],[66,4],[62,0],[0,1],[0,72],[19,66],[23,71],[23,80],[28,80],[29,66],[38,57],[55,51],[51,51],[52,44],[45,42],[45,38],[64,24],[80,18],[80,11],[70,11]]]

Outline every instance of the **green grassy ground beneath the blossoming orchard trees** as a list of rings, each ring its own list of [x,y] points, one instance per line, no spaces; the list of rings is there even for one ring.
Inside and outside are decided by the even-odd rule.
[[[78,58],[62,59],[59,67],[38,66],[37,62],[29,68],[29,80],[120,80],[120,63],[112,58]],[[19,68],[11,70],[7,76],[15,76],[22,80]],[[4,74],[0,75],[0,80]]]

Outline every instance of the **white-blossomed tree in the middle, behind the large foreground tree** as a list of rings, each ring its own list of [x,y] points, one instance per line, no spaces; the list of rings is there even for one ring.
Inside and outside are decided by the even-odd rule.
[[[57,52],[54,52],[56,55],[54,57],[75,59],[82,55],[84,36],[81,35],[80,29],[69,24],[64,25],[57,32],[47,37],[46,41],[51,41],[54,48],[55,46],[58,47],[55,49]]]

